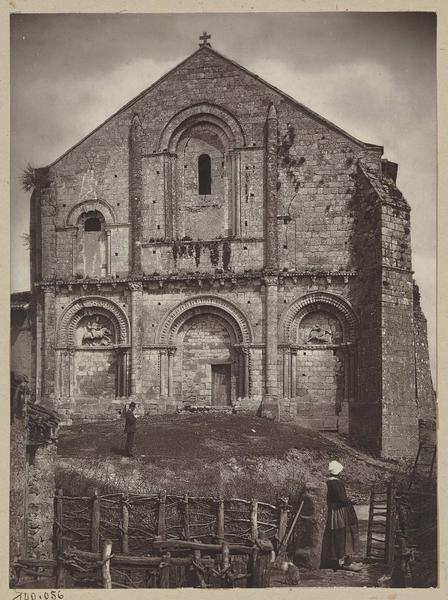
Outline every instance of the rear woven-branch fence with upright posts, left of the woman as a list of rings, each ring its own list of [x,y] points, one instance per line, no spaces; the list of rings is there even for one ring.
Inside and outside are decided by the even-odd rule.
[[[258,538],[277,543],[286,534],[288,500],[276,505],[238,498],[108,494],[55,498],[57,552],[75,548],[97,553],[111,540],[122,554],[146,554],[158,540],[246,543]]]

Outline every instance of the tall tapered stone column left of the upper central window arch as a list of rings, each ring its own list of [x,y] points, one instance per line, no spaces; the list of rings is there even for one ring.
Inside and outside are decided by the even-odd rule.
[[[142,272],[142,152],[143,129],[137,115],[129,133],[129,212],[131,221],[131,272]]]

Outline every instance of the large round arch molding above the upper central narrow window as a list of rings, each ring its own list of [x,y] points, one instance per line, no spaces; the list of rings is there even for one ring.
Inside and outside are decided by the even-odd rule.
[[[222,129],[232,146],[246,145],[243,128],[237,119],[220,106],[203,102],[181,110],[168,121],[160,135],[158,151],[174,152],[180,135],[186,129],[204,122],[212,123]]]

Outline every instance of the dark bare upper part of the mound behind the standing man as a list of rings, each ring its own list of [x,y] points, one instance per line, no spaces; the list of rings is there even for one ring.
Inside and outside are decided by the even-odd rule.
[[[121,454],[123,419],[85,423],[61,430],[59,453],[83,456]],[[252,415],[176,414],[141,418],[136,434],[137,454],[148,461],[164,458],[208,460],[231,456],[282,456],[291,448],[332,449],[334,444],[309,429],[275,423]]]

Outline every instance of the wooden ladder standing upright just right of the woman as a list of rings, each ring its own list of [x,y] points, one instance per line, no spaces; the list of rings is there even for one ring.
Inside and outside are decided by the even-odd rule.
[[[397,521],[396,491],[394,480],[386,488],[371,488],[366,558],[372,562],[387,565],[393,563]]]

